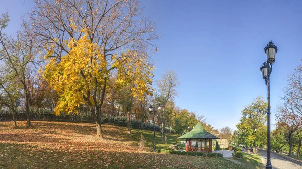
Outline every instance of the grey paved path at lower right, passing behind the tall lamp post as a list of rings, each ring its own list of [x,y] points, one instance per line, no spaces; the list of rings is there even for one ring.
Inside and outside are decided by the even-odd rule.
[[[260,151],[260,155],[262,163],[266,165],[267,151]],[[302,169],[302,166],[278,157],[273,153],[271,153],[271,162],[274,169]]]

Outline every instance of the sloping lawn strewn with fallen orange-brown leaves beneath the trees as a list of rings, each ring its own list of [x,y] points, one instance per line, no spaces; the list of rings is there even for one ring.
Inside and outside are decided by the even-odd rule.
[[[27,128],[19,121],[15,129],[13,122],[0,122],[0,168],[243,168],[224,158],[140,152],[140,133],[132,130],[129,136],[126,127],[103,125],[101,141],[95,137],[94,124],[32,124]],[[152,141],[148,136],[152,131],[143,133]],[[168,134],[169,138],[174,144],[176,135]]]

